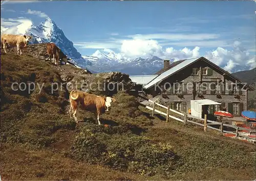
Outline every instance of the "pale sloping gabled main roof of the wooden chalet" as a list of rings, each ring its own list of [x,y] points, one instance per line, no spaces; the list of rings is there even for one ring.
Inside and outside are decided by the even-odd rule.
[[[239,80],[236,76],[232,75],[231,73],[225,71],[224,69],[222,69],[221,67],[219,67],[218,65],[212,63],[211,61],[207,60],[204,57],[200,57],[200,58],[193,58],[193,59],[186,59],[186,60],[182,60],[178,65],[176,64],[175,66],[172,66],[170,69],[164,71],[163,73],[161,73],[160,75],[158,75],[157,77],[155,77],[155,79],[153,79],[151,82],[149,82],[147,85],[143,86],[144,89],[148,89],[151,88],[152,86],[154,86],[155,84],[159,84],[161,83],[163,80],[167,79],[167,77],[172,76],[174,73],[186,68],[187,66],[195,63],[196,61],[199,60],[203,60],[206,63],[210,64],[211,66],[215,67],[216,69],[220,70],[222,73],[225,73],[227,76],[231,77],[234,80],[237,80],[237,82],[239,83],[243,83],[241,80]],[[178,61],[177,61],[178,62]],[[172,65],[172,64],[170,64]],[[254,90],[251,86],[246,85],[246,88],[248,88],[249,90]]]

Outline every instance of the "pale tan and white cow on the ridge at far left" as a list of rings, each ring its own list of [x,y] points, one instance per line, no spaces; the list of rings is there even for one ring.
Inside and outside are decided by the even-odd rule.
[[[28,35],[10,35],[10,34],[3,34],[1,36],[1,49],[2,47],[6,52],[7,46],[14,47],[17,46],[17,54],[20,50],[20,55],[22,55],[22,49],[27,46],[29,41],[32,39],[32,36]]]

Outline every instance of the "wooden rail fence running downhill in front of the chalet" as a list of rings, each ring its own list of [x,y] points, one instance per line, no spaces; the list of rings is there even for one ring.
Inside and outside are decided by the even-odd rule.
[[[161,104],[159,104],[159,103],[157,103],[157,102],[155,102],[153,100],[147,99],[147,101],[152,102],[153,103],[153,107],[146,106],[146,105],[144,105],[142,103],[140,103],[140,105],[145,107],[148,110],[151,110],[152,111],[152,116],[154,116],[155,113],[159,113],[159,114],[162,114],[162,115],[166,116],[166,122],[169,121],[169,118],[172,118],[172,119],[175,119],[177,121],[183,122],[184,125],[186,125],[187,122],[189,122],[189,123],[197,124],[197,125],[200,125],[200,126],[204,126],[204,132],[207,131],[207,128],[210,128],[212,130],[219,131],[221,134],[229,133],[229,134],[235,135],[236,138],[243,137],[243,138],[251,139],[254,142],[256,141],[255,138],[252,138],[252,137],[249,137],[249,136],[246,136],[246,135],[243,135],[243,134],[239,133],[239,131],[241,131],[241,130],[249,131],[250,133],[256,133],[255,130],[252,130],[252,129],[249,129],[249,128],[245,128],[245,127],[239,127],[239,126],[236,126],[236,125],[224,124],[223,122],[207,120],[207,116],[206,115],[205,115],[204,119],[203,118],[199,118],[199,117],[195,117],[195,116],[191,116],[190,114],[181,113],[179,111],[170,109],[169,106],[167,106],[167,107],[163,106],[163,105],[161,105]],[[155,108],[156,105],[161,107],[161,108],[166,109],[166,113],[157,110]],[[176,113],[176,114],[182,116],[183,119],[180,119],[180,118],[177,118],[175,116],[170,115],[170,112],[173,112],[173,113]],[[197,120],[201,120],[201,121],[203,121],[203,123],[199,123],[199,122],[195,122],[195,121],[192,121],[192,120],[188,120],[187,118],[189,118],[189,117],[197,119]],[[212,127],[211,125],[219,125],[219,129],[216,128],[216,127]],[[236,129],[236,132],[230,132],[230,131],[223,130],[223,126],[232,127],[234,129]]]

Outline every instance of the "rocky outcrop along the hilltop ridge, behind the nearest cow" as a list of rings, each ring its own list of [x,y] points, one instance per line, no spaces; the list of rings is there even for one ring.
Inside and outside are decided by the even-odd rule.
[[[47,43],[31,44],[24,48],[24,55],[37,58],[39,61],[46,61],[49,57],[46,50]],[[16,53],[17,48],[13,47],[8,51]],[[121,72],[104,72],[92,74],[87,69],[78,68],[75,65],[54,65],[52,67],[58,72],[61,80],[67,83],[68,90],[79,89],[97,95],[113,95],[117,91],[129,91],[134,89],[135,84],[128,74]]]

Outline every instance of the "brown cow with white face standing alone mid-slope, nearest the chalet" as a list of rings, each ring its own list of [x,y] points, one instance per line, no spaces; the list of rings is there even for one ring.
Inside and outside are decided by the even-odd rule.
[[[102,97],[98,95],[89,94],[87,92],[82,92],[79,90],[72,90],[70,92],[70,117],[73,114],[73,117],[76,122],[78,122],[76,113],[80,105],[82,110],[87,110],[94,112],[97,117],[98,124],[100,125],[99,116],[105,111],[110,110],[111,102],[115,102],[116,99],[113,97]]]

